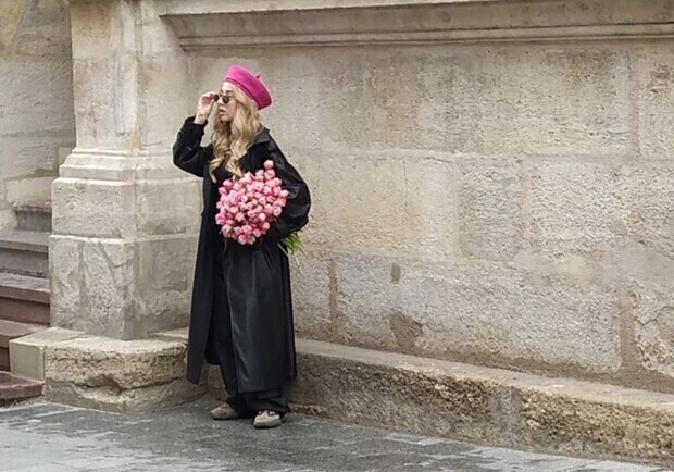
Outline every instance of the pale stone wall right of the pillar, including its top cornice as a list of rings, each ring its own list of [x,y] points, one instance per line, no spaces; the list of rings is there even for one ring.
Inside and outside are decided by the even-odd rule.
[[[167,7],[311,185],[299,335],[671,390],[671,4],[404,3]]]

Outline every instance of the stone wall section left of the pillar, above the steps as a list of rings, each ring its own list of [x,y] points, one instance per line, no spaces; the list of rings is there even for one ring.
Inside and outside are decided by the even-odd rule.
[[[75,144],[67,0],[0,3],[0,229],[13,206],[51,199]]]

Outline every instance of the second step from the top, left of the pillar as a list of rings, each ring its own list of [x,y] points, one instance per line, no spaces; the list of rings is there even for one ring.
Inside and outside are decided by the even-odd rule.
[[[49,233],[24,229],[1,233],[0,271],[47,277]]]

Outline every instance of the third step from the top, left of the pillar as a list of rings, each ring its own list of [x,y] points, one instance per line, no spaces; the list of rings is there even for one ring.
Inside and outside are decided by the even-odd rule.
[[[0,320],[49,325],[49,280],[0,272]]]

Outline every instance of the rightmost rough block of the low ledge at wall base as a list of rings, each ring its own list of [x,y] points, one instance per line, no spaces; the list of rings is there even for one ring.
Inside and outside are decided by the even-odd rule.
[[[610,385],[562,382],[517,390],[517,447],[610,455],[671,465],[673,398]]]

